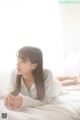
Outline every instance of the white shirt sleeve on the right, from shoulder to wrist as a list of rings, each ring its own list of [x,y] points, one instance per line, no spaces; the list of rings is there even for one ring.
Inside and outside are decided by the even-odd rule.
[[[62,85],[56,77],[53,77],[53,74],[50,70],[44,71],[44,83],[45,83],[45,97],[42,101],[35,100],[29,96],[23,97],[23,103],[21,107],[35,107],[44,104],[52,103],[54,98],[58,97],[62,93]]]

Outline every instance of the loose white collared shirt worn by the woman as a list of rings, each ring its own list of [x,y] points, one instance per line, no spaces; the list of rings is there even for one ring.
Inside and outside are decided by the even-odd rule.
[[[35,83],[32,84],[30,90],[28,91],[25,86],[23,79],[21,78],[21,91],[20,95],[23,97],[23,103],[21,107],[35,107],[44,104],[52,103],[54,98],[62,93],[62,85],[56,77],[53,76],[52,72],[48,69],[44,70],[43,74],[44,84],[45,84],[45,97],[42,101],[37,99],[37,91]],[[9,93],[15,89],[16,86],[16,71],[11,74]]]

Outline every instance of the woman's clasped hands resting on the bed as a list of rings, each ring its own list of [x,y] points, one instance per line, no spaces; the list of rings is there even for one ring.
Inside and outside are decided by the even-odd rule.
[[[9,107],[10,109],[16,109],[21,106],[23,102],[22,96],[13,96],[13,95],[7,95],[4,99],[4,104]]]

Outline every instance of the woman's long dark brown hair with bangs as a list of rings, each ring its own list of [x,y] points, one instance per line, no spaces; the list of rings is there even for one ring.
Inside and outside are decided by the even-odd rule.
[[[43,55],[39,48],[24,46],[18,51],[18,57],[23,60],[29,59],[32,64],[37,63],[37,68],[33,71],[35,86],[37,90],[37,98],[42,100],[45,96],[45,85],[43,79]],[[16,88],[11,94],[18,95],[21,90],[21,75],[16,77]]]

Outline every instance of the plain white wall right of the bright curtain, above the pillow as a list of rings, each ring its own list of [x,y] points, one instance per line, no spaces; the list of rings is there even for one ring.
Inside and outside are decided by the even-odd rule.
[[[64,53],[80,52],[80,4],[60,4]]]

